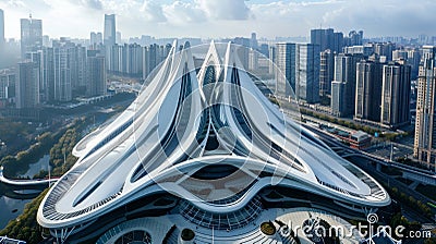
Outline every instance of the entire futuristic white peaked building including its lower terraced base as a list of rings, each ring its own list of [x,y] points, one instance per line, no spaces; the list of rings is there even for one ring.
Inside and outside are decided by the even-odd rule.
[[[238,46],[221,56],[216,46],[196,68],[192,48],[174,42],[136,100],[74,147],[77,162],[37,215],[60,242],[293,243],[259,225],[347,224],[339,217],[390,204],[264,96]]]

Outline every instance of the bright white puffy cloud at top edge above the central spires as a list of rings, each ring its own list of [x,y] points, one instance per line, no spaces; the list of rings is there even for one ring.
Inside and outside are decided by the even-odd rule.
[[[247,20],[252,16],[244,0],[195,0],[195,3],[214,20]]]

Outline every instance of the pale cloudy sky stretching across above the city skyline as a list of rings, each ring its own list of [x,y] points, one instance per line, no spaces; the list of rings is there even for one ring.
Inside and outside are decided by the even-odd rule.
[[[0,0],[5,36],[20,36],[20,19],[43,20],[44,35],[86,37],[117,14],[122,37],[308,36],[334,27],[365,36],[436,36],[435,0]]]

